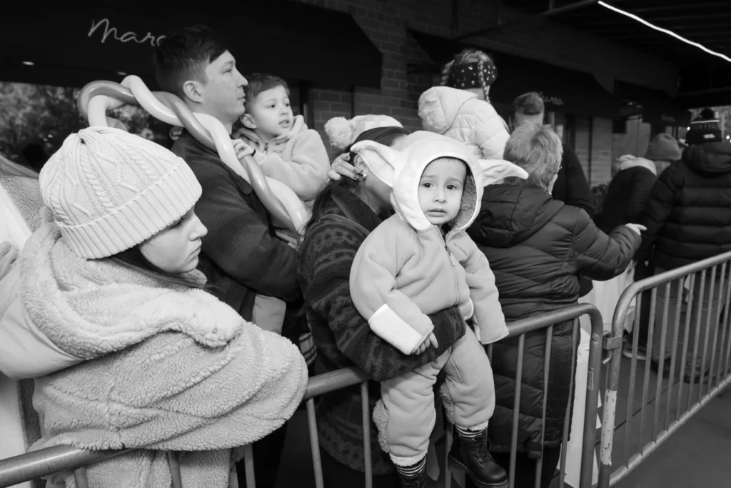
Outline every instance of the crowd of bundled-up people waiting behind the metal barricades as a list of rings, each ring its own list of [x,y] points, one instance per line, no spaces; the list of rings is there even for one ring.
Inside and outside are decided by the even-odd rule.
[[[507,487],[520,383],[515,486],[548,487],[577,343],[572,323],[556,324],[545,364],[545,333],[526,334],[517,378],[510,323],[575,304],[635,262],[662,272],[731,249],[731,144],[707,120],[682,156],[659,136],[622,159],[594,217],[539,95],[501,119],[498,70],[479,50],[422,95],[423,131],[376,114],[330,121],[332,164],[287,83],[241,75],[209,29],[166,37],[154,68],[311,217],[300,238],[278,228],[187,130],[167,150],[89,127],[39,176],[2,163],[0,198],[16,211],[0,239],[0,371],[34,379],[31,448],[139,449],[91,466],[90,486],[170,486],[172,450],[184,484],[244,487],[252,444],[257,487],[274,487],[308,376],[355,366],[371,378],[374,486],[425,487],[436,403],[455,426],[452,468]],[[363,486],[360,405],[358,386],[318,400],[325,486]]]

